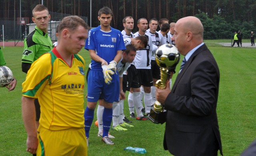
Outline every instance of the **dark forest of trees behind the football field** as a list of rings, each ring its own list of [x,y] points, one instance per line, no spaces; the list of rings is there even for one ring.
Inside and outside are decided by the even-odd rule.
[[[160,20],[167,18],[170,22],[186,16],[196,16],[204,24],[205,39],[230,38],[234,31],[242,31],[247,38],[250,31],[256,31],[255,0],[91,0],[92,23],[90,23],[90,0],[44,0],[50,12],[87,16],[92,27],[99,25],[98,10],[108,6],[113,11],[111,26],[122,30],[125,16],[134,18],[134,32],[139,18]],[[21,16],[32,18],[32,9],[42,0],[21,0]],[[7,20],[20,17],[19,0],[2,0],[0,19]],[[26,10],[26,11],[25,11]],[[60,19],[61,20],[61,19]],[[159,28],[158,28],[159,29]]]

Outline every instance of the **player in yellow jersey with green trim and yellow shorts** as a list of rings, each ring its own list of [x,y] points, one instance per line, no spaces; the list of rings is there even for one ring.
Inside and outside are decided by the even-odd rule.
[[[22,84],[27,151],[38,156],[87,156],[84,131],[84,47],[90,27],[78,16],[63,18],[58,45],[32,65]],[[36,131],[34,99],[41,107]]]

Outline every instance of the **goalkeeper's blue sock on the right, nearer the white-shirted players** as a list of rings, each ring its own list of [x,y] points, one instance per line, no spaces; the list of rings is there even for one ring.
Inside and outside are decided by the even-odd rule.
[[[103,111],[103,135],[102,137],[104,136],[108,136],[108,131],[110,129],[110,126],[111,126],[111,122],[112,122],[112,113],[113,113],[113,110],[112,108],[104,108],[104,111]]]

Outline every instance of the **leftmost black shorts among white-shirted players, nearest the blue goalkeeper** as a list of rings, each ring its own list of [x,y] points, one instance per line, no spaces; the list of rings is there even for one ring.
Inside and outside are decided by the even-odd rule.
[[[138,71],[133,64],[127,69],[126,74],[123,75],[123,90],[130,91],[130,88],[140,88]]]

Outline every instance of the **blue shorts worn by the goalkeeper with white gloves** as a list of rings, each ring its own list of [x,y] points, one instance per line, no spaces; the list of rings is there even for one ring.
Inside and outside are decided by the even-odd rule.
[[[99,70],[90,70],[88,75],[88,97],[87,101],[97,102],[100,94],[104,101],[113,103],[119,101],[119,76],[118,74],[111,75],[112,83],[106,84],[104,81],[103,72]]]

